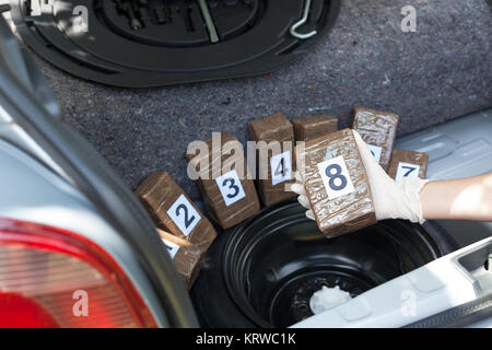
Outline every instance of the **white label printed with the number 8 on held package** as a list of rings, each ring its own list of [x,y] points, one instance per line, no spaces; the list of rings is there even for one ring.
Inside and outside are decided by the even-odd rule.
[[[330,200],[354,191],[343,156],[318,163],[318,170]]]

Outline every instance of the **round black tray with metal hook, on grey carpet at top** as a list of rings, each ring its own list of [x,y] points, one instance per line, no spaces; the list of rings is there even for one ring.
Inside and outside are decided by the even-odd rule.
[[[341,1],[311,1],[296,35],[290,28],[301,23],[304,0],[10,3],[24,43],[56,67],[108,85],[150,88],[262,74],[300,60],[330,31]]]

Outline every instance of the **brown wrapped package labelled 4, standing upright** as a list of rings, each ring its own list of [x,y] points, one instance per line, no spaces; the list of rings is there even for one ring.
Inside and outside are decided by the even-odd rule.
[[[294,128],[281,114],[248,122],[249,140],[256,141],[256,178],[259,195],[266,206],[295,196],[285,190],[294,179]]]

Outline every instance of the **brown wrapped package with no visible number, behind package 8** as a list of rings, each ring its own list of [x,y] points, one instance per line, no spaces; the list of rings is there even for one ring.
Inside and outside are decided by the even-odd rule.
[[[338,119],[326,114],[292,120],[295,141],[311,141],[338,130]]]

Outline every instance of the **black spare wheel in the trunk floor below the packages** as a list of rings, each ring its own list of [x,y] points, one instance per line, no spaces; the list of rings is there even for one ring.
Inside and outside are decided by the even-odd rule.
[[[436,242],[453,245],[402,220],[326,238],[304,211],[289,201],[219,233],[191,290],[203,327],[288,327],[313,315],[323,285],[353,298],[446,254]]]

